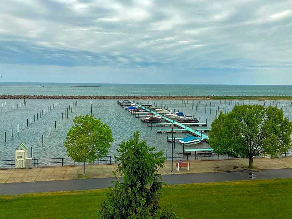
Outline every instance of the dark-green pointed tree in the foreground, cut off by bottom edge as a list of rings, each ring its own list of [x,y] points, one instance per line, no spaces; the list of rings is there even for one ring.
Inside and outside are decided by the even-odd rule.
[[[140,141],[139,132],[133,139],[120,144],[117,148],[116,162],[120,162],[117,172],[123,176],[123,182],[116,173],[115,188],[108,188],[98,210],[98,217],[103,219],[148,219],[177,218],[176,214],[161,208],[158,204],[162,182],[158,171],[164,166],[162,151],[149,148],[145,141]]]

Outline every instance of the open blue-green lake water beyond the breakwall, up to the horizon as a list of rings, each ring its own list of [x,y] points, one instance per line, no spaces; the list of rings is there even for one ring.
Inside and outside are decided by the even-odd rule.
[[[0,95],[287,96],[289,85],[0,83]]]

